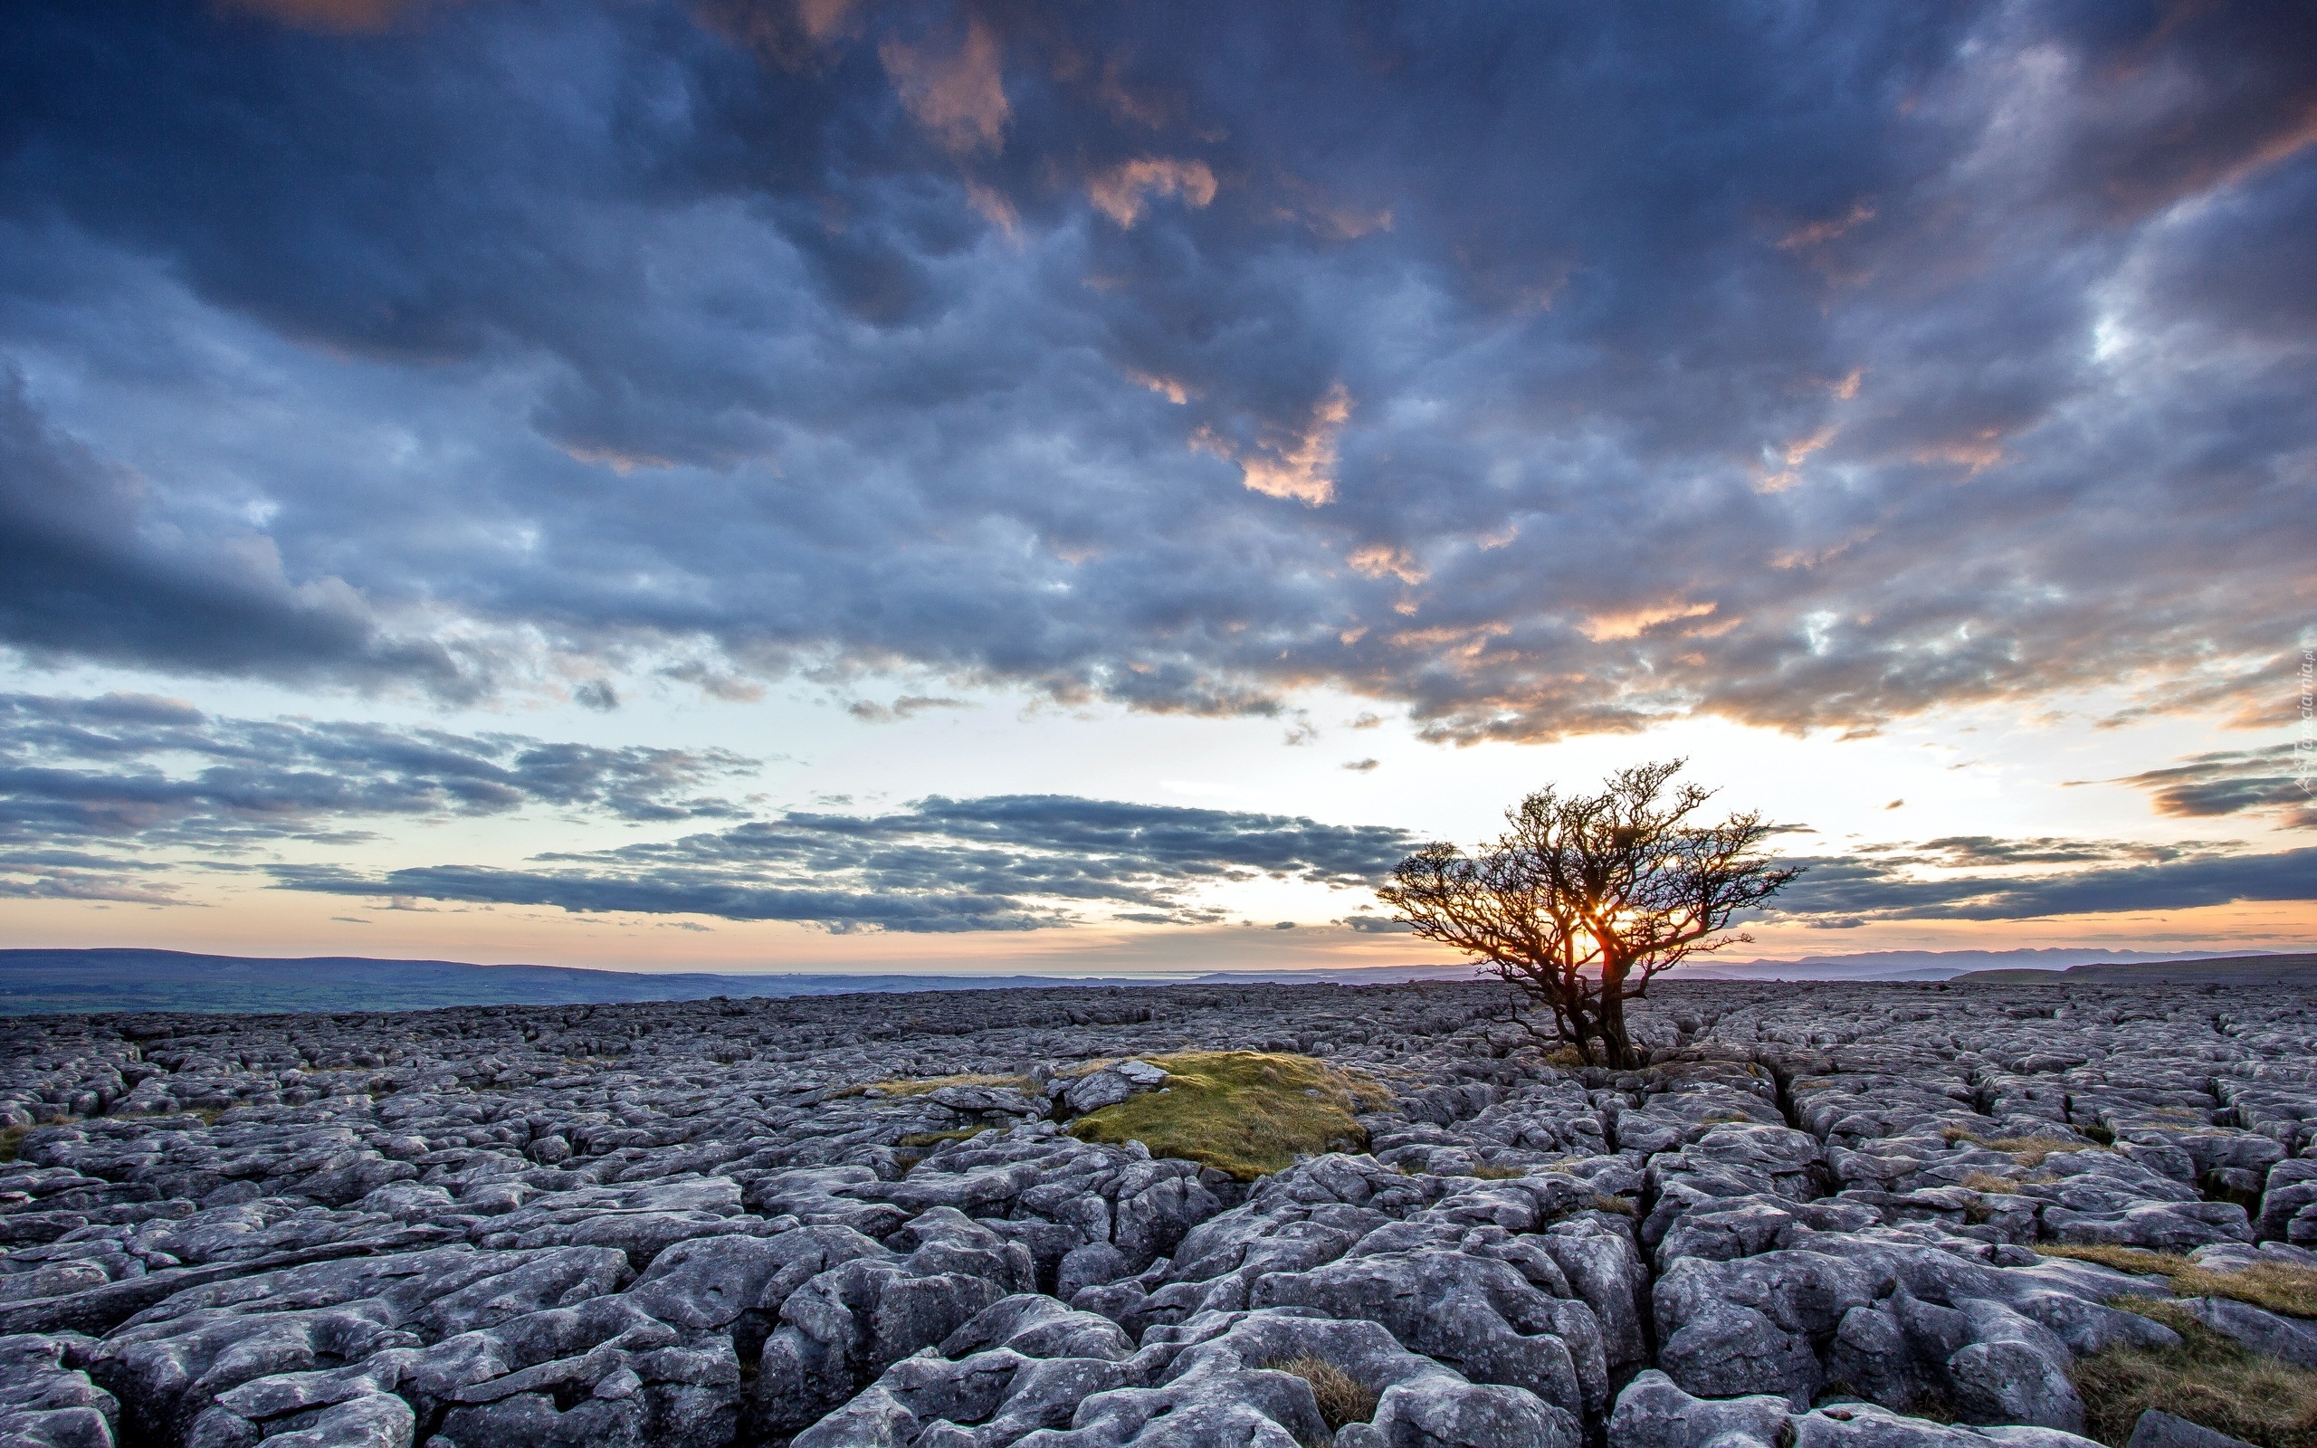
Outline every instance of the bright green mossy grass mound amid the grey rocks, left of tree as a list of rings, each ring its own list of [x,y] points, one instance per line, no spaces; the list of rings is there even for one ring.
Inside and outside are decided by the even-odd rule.
[[[1311,1056],[1182,1052],[1149,1056],[1170,1077],[1070,1121],[1082,1142],[1142,1142],[1152,1156],[1198,1161],[1240,1182],[1286,1170],[1302,1154],[1362,1149],[1353,1112],[1390,1100],[1376,1082]]]

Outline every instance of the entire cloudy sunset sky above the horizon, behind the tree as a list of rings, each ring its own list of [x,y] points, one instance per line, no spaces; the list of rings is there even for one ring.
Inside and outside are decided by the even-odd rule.
[[[2285,0],[32,0],[0,945],[2312,948],[2312,276]]]

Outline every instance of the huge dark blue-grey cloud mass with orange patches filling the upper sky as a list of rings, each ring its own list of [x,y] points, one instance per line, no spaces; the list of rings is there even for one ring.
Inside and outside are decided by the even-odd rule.
[[[0,67],[9,468],[79,480],[7,517],[90,561],[21,649],[2289,697],[2301,5],[58,2]]]

